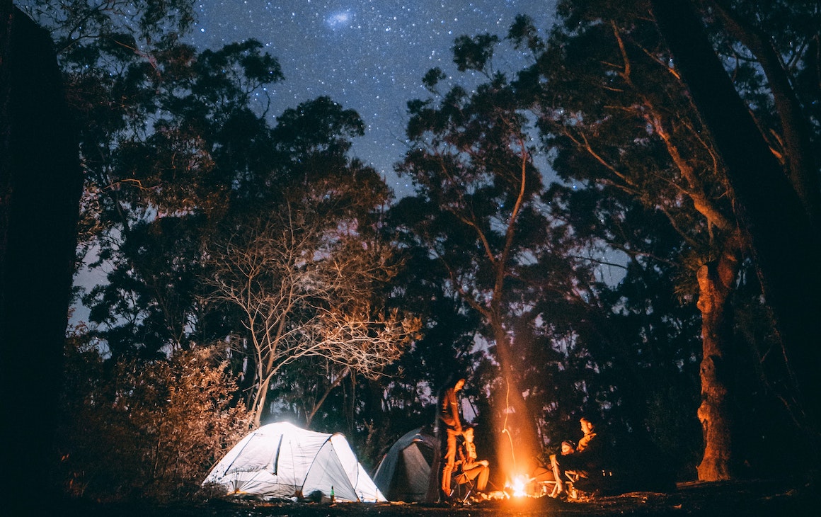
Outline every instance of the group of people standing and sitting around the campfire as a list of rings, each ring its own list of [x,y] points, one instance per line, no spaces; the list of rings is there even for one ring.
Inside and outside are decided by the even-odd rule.
[[[464,386],[465,379],[458,378],[446,383],[438,394],[435,430],[441,452],[439,501],[451,499],[452,482],[461,484],[475,479],[475,490],[484,492],[490,474],[488,460],[477,460],[473,428],[463,427],[461,423],[457,394]],[[553,482],[553,496],[566,496],[566,482],[571,477],[589,478],[590,473],[602,469],[603,442],[596,432],[595,422],[585,417],[580,419],[580,425],[583,436],[578,444],[571,440],[563,441],[561,453],[550,455],[549,464],[540,466],[532,473],[532,478],[538,482]]]

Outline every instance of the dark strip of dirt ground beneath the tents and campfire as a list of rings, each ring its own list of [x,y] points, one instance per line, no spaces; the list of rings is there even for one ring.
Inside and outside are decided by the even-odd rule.
[[[175,506],[88,506],[65,508],[62,515],[84,517],[414,517],[460,515],[482,517],[623,517],[660,515],[675,517],[792,517],[821,515],[817,486],[791,487],[783,482],[690,482],[675,492],[632,492],[621,496],[582,497],[557,501],[548,496],[478,501],[463,505],[419,503],[268,503],[262,501],[208,501]],[[71,510],[76,510],[76,513]]]

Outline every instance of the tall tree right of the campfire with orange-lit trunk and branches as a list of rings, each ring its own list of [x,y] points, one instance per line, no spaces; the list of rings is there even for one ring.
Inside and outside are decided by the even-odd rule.
[[[539,111],[539,127],[556,153],[553,166],[562,178],[632,196],[665,215],[679,233],[677,261],[682,271],[690,271],[681,294],[697,299],[702,316],[698,417],[705,447],[699,478],[730,478],[738,412],[728,374],[750,352],[734,347],[733,293],[739,278],[747,278],[739,275],[749,255],[727,168],[649,4],[561,2],[558,12],[561,24],[547,42],[523,18],[511,28],[516,44],[536,56],[517,87]],[[767,121],[768,95],[761,95],[755,86],[761,83],[750,70],[740,74],[739,88],[758,95],[753,106],[760,124],[773,127]],[[777,127],[772,132],[780,134]],[[650,263],[640,246],[626,251]]]

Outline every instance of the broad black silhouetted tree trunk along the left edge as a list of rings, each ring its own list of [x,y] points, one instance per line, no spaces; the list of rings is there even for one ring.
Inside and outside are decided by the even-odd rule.
[[[11,2],[0,15],[0,464],[23,480],[16,501],[39,514],[57,497],[49,474],[82,173],[51,38]]]

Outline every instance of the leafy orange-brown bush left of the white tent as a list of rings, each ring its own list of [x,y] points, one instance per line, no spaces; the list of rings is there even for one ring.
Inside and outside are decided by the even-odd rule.
[[[190,498],[248,429],[227,350],[115,362],[94,345],[80,333],[67,346],[57,440],[67,492],[100,501]]]

